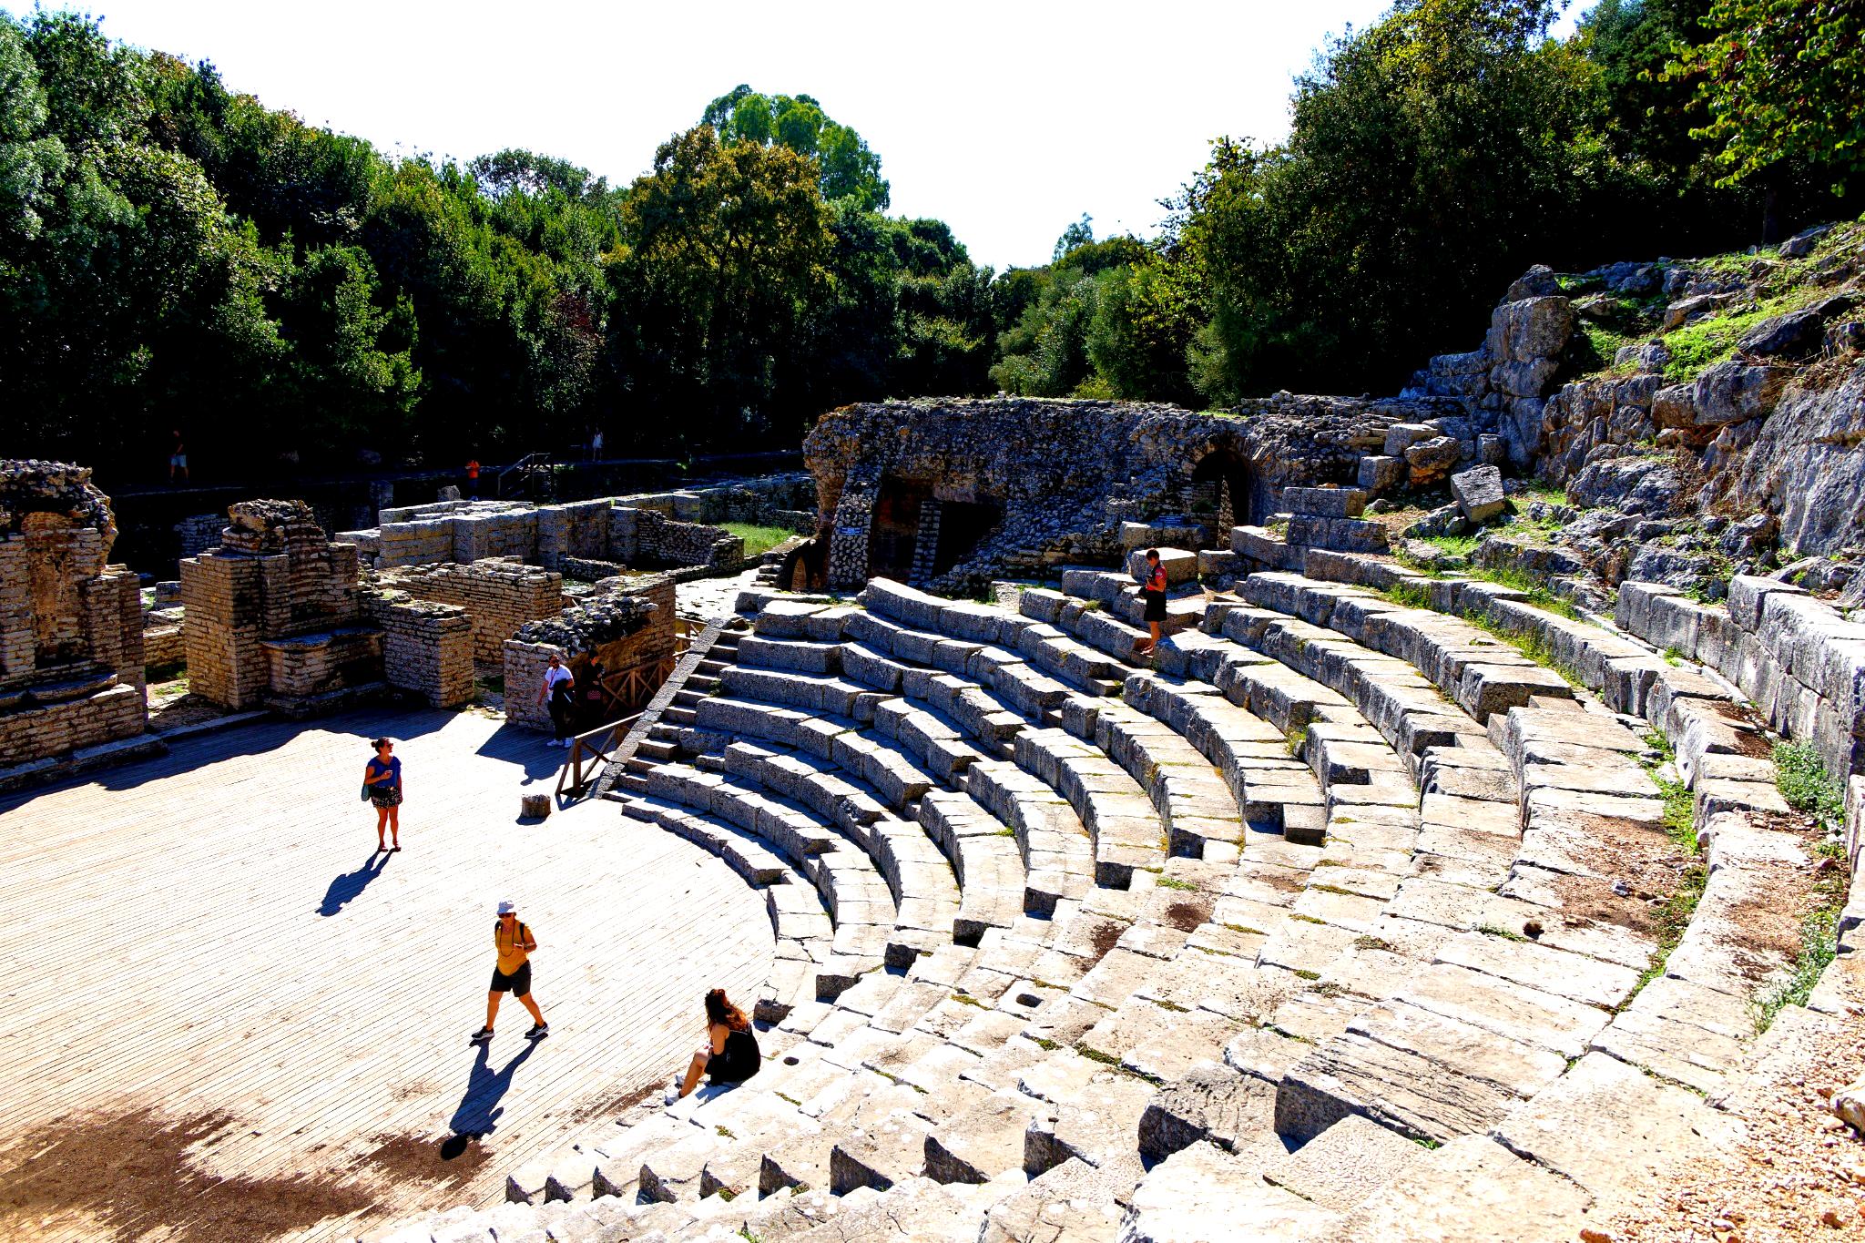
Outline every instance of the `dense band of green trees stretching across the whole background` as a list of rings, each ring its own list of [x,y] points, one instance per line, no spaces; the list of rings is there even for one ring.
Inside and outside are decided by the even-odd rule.
[[[627,186],[390,158],[90,19],[0,13],[6,453],[159,477],[794,445],[916,393],[1391,389],[1531,263],[1856,212],[1865,0],[1395,0],[1220,138],[1153,240],[992,272],[888,216],[809,95],[714,99]],[[1214,129],[1222,117],[1212,119]],[[1162,186],[1164,190],[1164,186]],[[1850,198],[1846,198],[1850,196]]]

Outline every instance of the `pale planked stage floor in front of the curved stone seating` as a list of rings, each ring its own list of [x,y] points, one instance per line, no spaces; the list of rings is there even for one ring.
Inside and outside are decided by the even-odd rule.
[[[367,738],[407,805],[373,855]],[[489,1204],[658,1088],[774,943],[724,863],[612,803],[518,822],[560,753],[477,714],[261,723],[0,799],[0,1237],[345,1237]],[[485,1018],[494,904],[552,1034]],[[477,1139],[461,1139],[477,1137]]]

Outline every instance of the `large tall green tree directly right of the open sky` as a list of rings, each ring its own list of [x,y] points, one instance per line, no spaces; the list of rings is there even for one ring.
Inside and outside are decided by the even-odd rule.
[[[1179,199],[1209,399],[1397,386],[1580,233],[1587,69],[1548,0],[1399,0],[1298,78],[1289,142],[1218,143]]]

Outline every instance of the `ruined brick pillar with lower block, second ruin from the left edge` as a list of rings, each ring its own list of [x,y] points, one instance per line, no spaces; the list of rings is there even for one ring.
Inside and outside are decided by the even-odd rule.
[[[302,501],[242,501],[228,516],[220,546],[181,563],[192,693],[295,717],[388,686],[436,706],[470,699],[472,628],[463,609],[455,624],[433,611],[446,606],[371,600],[356,548],[325,539]],[[412,654],[423,637],[433,656]]]

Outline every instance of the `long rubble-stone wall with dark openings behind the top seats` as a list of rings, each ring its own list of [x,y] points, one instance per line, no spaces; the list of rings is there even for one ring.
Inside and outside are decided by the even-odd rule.
[[[804,440],[817,481],[819,539],[828,583],[856,587],[875,567],[877,507],[916,488],[949,514],[953,505],[1002,507],[1002,518],[949,568],[919,574],[934,591],[964,591],[988,578],[1052,574],[1067,563],[1112,563],[1125,553],[1128,522],[1184,516],[1194,505],[1220,518],[1261,520],[1285,486],[1350,483],[1360,460],[1386,444],[1393,423],[1460,417],[1442,397],[1388,401],[1276,397],[1235,416],[1108,401],[905,401],[843,406]],[[1210,471],[1227,477],[1222,501]],[[944,518],[951,522],[949,516]],[[914,539],[938,539],[932,524]],[[914,565],[929,567],[923,548]]]

